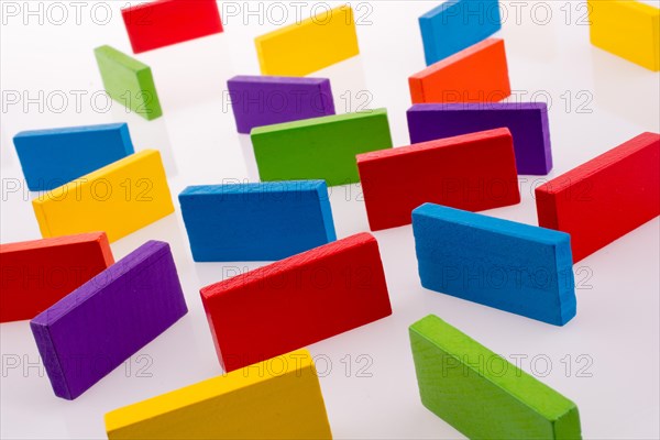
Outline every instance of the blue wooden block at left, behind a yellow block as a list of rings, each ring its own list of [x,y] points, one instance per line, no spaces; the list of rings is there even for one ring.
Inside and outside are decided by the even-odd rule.
[[[125,123],[23,131],[13,141],[31,191],[55,189],[134,153]]]

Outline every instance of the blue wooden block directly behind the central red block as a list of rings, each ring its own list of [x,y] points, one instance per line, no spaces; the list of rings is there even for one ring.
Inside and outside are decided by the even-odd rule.
[[[179,202],[196,262],[275,261],[337,240],[323,180],[191,186]]]

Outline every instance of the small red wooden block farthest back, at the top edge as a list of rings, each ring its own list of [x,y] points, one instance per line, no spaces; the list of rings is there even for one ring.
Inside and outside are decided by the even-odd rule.
[[[121,16],[135,54],[222,32],[216,0],[156,0]]]

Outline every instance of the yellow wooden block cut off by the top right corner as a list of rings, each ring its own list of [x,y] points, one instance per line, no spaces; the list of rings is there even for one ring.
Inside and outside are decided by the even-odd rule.
[[[587,8],[594,46],[660,69],[660,9],[636,0],[587,0]]]

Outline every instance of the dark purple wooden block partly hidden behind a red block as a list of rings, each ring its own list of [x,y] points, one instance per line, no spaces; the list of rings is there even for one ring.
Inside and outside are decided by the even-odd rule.
[[[552,152],[544,102],[421,103],[408,110],[410,143],[503,127],[514,138],[518,174],[550,173]]]

